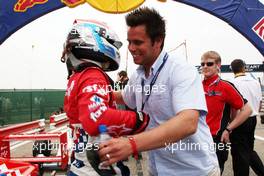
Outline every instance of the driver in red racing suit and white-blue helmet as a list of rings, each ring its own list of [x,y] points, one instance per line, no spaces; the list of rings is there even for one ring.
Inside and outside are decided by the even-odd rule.
[[[67,36],[61,61],[66,63],[69,73],[64,110],[74,140],[69,176],[101,174],[100,161],[89,159],[94,155],[87,153],[96,147],[91,142],[99,135],[99,125],[106,125],[108,134],[118,137],[141,132],[148,124],[147,114],[114,107],[111,88],[114,82],[105,71],[118,69],[121,46],[117,35],[105,23],[94,20],[75,21]],[[115,175],[116,170],[111,171],[110,175]]]

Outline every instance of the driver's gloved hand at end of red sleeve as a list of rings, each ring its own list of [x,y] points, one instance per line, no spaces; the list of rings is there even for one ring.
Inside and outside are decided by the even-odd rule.
[[[135,113],[136,113],[136,124],[132,131],[132,134],[137,134],[137,133],[144,131],[149,123],[148,114],[141,112],[141,111],[137,111]]]

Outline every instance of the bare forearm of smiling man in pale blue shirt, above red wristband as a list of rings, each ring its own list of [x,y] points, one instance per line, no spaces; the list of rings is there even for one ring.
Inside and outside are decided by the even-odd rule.
[[[199,112],[184,110],[162,125],[134,136],[138,151],[161,148],[196,132]]]

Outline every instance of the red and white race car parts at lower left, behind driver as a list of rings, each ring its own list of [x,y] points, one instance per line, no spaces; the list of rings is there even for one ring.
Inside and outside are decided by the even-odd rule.
[[[68,118],[63,113],[53,115],[51,121],[56,128],[62,120],[64,120],[63,124],[66,127],[64,130],[62,128],[53,131],[48,130],[45,128],[44,119],[0,128],[0,175],[37,176],[43,175],[45,170],[55,168],[66,170],[70,158],[68,144],[71,140],[70,128],[65,126]],[[11,155],[10,146],[11,142],[14,141],[22,141],[24,144],[26,141],[34,141],[32,148],[24,148],[24,150],[32,149],[32,155],[28,153],[23,156]],[[56,156],[51,154],[53,149],[57,149]]]

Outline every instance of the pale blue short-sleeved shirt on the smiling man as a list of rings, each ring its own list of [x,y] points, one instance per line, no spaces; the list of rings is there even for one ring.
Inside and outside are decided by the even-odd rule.
[[[130,108],[141,110],[148,96],[146,94],[150,93],[149,85],[164,56],[165,52],[161,52],[151,67],[149,77],[145,77],[142,66],[131,76],[122,92],[123,99]],[[149,151],[149,167],[155,176],[207,175],[218,165],[214,151],[209,148],[213,146],[213,140],[205,121],[207,108],[199,74],[195,67],[184,60],[169,56],[153,85],[148,101],[145,102],[143,111],[150,115],[148,129],[163,124],[185,109],[200,111],[197,131],[176,143]]]

